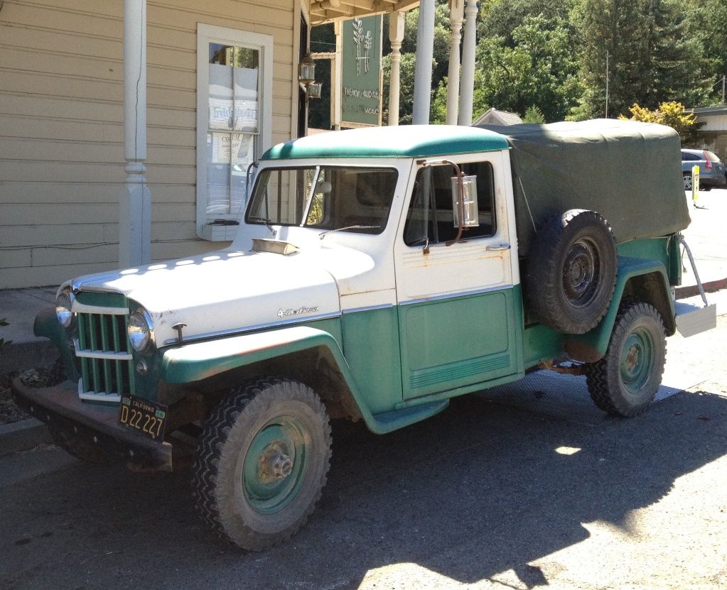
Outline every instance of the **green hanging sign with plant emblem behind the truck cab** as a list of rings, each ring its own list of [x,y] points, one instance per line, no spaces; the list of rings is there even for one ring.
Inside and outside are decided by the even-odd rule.
[[[381,124],[381,23],[381,15],[343,23],[343,127]]]

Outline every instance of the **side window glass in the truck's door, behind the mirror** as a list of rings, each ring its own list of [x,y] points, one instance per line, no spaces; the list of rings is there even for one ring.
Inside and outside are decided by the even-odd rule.
[[[494,215],[494,181],[489,162],[461,164],[465,174],[477,176],[477,202],[480,225],[467,227],[462,240],[486,238],[497,231]],[[404,243],[417,246],[429,241],[443,243],[457,236],[452,211],[452,182],[455,173],[451,166],[426,166],[417,173],[414,194],[404,225]]]

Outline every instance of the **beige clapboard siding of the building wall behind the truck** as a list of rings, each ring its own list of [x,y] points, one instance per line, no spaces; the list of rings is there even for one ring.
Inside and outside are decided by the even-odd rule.
[[[196,237],[197,24],[273,37],[273,143],[294,113],[294,1],[148,1],[147,180],[154,260]],[[0,288],[118,264],[123,0],[6,0],[0,17]]]

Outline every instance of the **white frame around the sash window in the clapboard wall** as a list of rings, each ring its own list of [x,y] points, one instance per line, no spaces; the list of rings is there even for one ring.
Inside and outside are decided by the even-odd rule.
[[[238,226],[209,225],[206,211],[209,199],[206,141],[209,131],[209,44],[211,43],[249,47],[259,52],[260,83],[257,96],[259,129],[257,149],[254,153],[254,159],[258,160],[272,145],[273,137],[273,36],[197,23],[197,173],[195,190],[197,235],[203,240],[227,241],[231,239],[228,232],[222,232],[220,235],[220,233],[215,233],[213,228],[232,227],[236,233]],[[240,212],[244,213],[244,207]]]

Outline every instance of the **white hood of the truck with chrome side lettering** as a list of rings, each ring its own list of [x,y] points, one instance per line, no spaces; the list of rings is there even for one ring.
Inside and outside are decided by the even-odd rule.
[[[336,281],[316,260],[218,251],[73,281],[80,291],[121,293],[151,316],[158,347],[185,340],[340,315]]]

